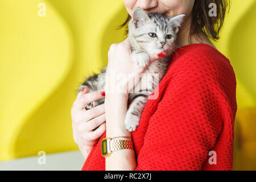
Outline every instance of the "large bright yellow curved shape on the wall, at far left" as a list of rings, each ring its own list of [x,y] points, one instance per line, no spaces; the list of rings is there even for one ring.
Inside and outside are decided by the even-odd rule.
[[[42,2],[46,16],[38,15]],[[5,129],[0,132],[0,160],[7,160],[16,157],[16,142],[24,144],[18,156],[26,152],[31,138],[20,140],[20,130],[72,67],[72,38],[47,2],[12,0],[0,6],[0,128]],[[36,134],[36,129],[30,133]]]

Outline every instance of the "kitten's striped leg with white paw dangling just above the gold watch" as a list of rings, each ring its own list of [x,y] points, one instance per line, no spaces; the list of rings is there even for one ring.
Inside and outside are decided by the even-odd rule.
[[[147,99],[148,96],[141,94],[141,96],[134,98],[131,102],[125,117],[125,127],[128,131],[135,131],[135,129],[137,129]]]

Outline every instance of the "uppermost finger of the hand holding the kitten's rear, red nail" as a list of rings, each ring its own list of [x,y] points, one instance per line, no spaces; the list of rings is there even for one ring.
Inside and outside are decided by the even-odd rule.
[[[99,100],[101,98],[104,98],[104,94],[100,91],[94,91],[86,94],[81,94],[77,97],[76,101],[76,109],[77,110],[83,110],[86,105],[88,105],[90,102]]]

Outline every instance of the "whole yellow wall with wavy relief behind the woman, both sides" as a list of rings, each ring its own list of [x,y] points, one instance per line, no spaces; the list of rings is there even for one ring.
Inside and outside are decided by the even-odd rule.
[[[234,168],[256,169],[256,1],[231,2],[216,46],[237,76]],[[123,2],[0,0],[0,7],[0,161],[77,150],[75,90],[123,40],[125,30],[115,30],[126,19]]]

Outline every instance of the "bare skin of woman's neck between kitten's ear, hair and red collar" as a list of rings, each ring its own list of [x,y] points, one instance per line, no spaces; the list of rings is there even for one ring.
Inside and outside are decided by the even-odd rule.
[[[204,32],[191,35],[191,37],[189,38],[190,28],[191,28],[191,18],[188,18],[184,21],[183,26],[180,28],[177,34],[177,39],[176,39],[177,47],[183,47],[189,44],[204,43],[216,48],[212,44],[212,42],[210,42],[210,40],[208,39],[208,36]]]

